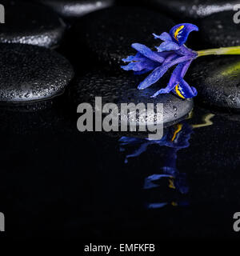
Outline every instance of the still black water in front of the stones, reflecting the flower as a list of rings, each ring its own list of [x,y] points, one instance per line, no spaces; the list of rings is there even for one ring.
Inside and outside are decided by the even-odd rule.
[[[149,141],[82,134],[75,110],[6,113],[0,211],[9,237],[238,238],[238,115],[195,106]]]

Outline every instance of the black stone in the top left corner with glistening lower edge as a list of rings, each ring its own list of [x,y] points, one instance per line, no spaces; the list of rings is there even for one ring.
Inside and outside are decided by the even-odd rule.
[[[62,40],[66,25],[46,6],[9,2],[6,22],[1,24],[0,42],[56,47]]]

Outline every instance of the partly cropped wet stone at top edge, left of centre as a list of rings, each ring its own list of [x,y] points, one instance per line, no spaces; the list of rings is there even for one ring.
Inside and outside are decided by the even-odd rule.
[[[79,18],[114,4],[114,0],[35,0],[49,6],[64,18]]]

